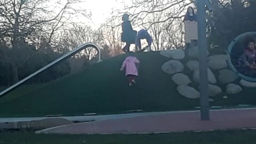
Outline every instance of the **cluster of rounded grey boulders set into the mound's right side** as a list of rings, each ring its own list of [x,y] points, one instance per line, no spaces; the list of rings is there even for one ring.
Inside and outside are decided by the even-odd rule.
[[[199,85],[200,78],[198,47],[189,49],[187,55],[182,49],[161,51],[160,54],[170,58],[169,61],[163,63],[162,70],[172,75],[170,81],[177,84],[179,94],[189,99],[199,98],[199,87],[195,87],[195,85]],[[191,73],[192,75],[186,75],[185,70],[187,74]],[[242,87],[256,87],[256,83],[239,79],[234,71],[228,68],[227,55],[225,54],[208,57],[207,73],[210,101],[214,101],[213,97],[216,95],[223,94],[223,98],[226,99],[228,97],[225,94],[240,93],[243,91]],[[239,83],[237,83],[238,81]]]

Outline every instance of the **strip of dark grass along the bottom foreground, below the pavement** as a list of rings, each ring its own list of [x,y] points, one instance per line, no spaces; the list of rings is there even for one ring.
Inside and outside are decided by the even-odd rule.
[[[214,131],[166,134],[119,134],[119,135],[46,135],[28,132],[0,133],[4,144],[252,144],[256,131]]]

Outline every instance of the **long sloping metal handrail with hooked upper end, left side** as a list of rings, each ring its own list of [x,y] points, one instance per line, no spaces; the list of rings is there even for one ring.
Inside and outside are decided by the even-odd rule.
[[[42,71],[46,70],[47,68],[50,68],[50,67],[52,67],[52,66],[54,66],[54,65],[57,65],[57,64],[60,63],[61,61],[66,60],[66,59],[72,57],[74,54],[76,54],[76,53],[78,53],[78,52],[80,52],[80,51],[86,49],[87,47],[93,47],[93,48],[97,49],[98,54],[99,54],[99,61],[98,61],[98,62],[100,62],[100,61],[101,61],[101,53],[100,53],[99,47],[98,47],[97,45],[93,44],[93,43],[85,43],[85,44],[83,44],[83,45],[81,45],[81,46],[78,46],[75,50],[70,51],[70,52],[68,52],[68,53],[66,53],[66,54],[64,54],[64,55],[62,55],[60,58],[58,58],[58,59],[52,61],[51,63],[49,63],[48,65],[44,66],[43,68],[37,70],[35,73],[33,73],[33,74],[31,74],[31,75],[29,75],[29,76],[23,78],[23,79],[22,79],[21,81],[19,81],[18,83],[15,83],[14,85],[8,87],[7,89],[5,89],[4,91],[2,91],[2,92],[0,93],[0,98],[3,97],[4,94],[7,94],[7,93],[9,93],[11,90],[14,90],[15,88],[17,88],[17,87],[18,87],[19,85],[21,85],[22,83],[28,81],[28,79],[30,79],[30,78],[32,78],[32,77],[38,75],[39,73],[42,73]]]

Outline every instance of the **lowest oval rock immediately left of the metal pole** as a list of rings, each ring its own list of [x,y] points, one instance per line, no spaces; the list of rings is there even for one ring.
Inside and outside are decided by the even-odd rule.
[[[184,97],[189,99],[196,99],[200,97],[200,93],[196,91],[193,87],[187,85],[179,85],[177,91]]]

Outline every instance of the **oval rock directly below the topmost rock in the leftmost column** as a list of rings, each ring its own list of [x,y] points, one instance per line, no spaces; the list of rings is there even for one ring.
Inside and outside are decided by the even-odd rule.
[[[170,60],[164,63],[162,70],[168,74],[180,73],[184,70],[184,66],[178,60]]]

